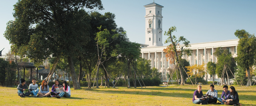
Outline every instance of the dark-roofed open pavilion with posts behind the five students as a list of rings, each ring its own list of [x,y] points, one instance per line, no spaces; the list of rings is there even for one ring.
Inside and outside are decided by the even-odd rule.
[[[36,66],[34,66],[34,63],[21,62],[21,63],[18,64],[18,68],[23,68],[24,69],[23,79],[25,79],[25,69],[26,68],[30,68],[30,78],[32,78],[32,74],[33,74],[32,68],[37,68],[37,78],[36,79],[38,80],[38,68],[44,68],[44,66],[40,65],[40,66],[36,67]],[[19,70],[18,70],[18,73],[19,73]],[[18,74],[18,78],[17,79],[19,80],[19,74]]]

